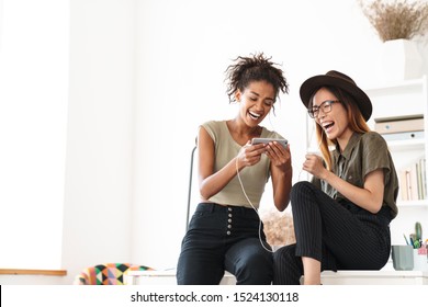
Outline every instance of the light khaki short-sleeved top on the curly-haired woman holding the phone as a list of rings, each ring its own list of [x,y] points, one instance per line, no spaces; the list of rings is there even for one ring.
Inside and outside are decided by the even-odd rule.
[[[202,127],[206,129],[214,141],[214,172],[217,172],[238,155],[241,146],[232,137],[226,121],[211,121],[204,123]],[[262,127],[260,137],[283,138],[280,134],[264,127]],[[200,159],[203,159],[203,157],[200,157]],[[261,155],[261,160],[255,166],[244,168],[239,172],[239,177],[244,191],[236,175],[222,191],[210,197],[209,201],[222,205],[251,207],[244,194],[245,192],[255,208],[258,208],[264,192],[264,185],[270,178],[269,158],[266,155]]]

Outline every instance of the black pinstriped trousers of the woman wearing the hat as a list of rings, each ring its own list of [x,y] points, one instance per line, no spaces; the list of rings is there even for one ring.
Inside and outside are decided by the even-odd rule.
[[[371,214],[341,204],[309,182],[291,192],[296,243],[274,255],[273,284],[300,284],[302,257],[322,262],[322,270],[380,270],[391,251],[388,209]]]

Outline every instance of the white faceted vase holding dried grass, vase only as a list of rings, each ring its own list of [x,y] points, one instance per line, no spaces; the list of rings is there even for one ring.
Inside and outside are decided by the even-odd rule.
[[[423,58],[415,42],[393,39],[383,43],[382,72],[385,80],[402,81],[421,76]]]

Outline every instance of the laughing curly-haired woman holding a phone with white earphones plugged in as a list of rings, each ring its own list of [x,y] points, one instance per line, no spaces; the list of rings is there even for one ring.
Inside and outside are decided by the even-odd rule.
[[[292,184],[290,148],[279,141],[252,145],[252,138],[283,137],[261,126],[279,92],[289,84],[263,54],[238,57],[226,69],[235,118],[202,124],[198,135],[201,201],[182,240],[177,281],[180,285],[218,284],[225,270],[237,284],[271,284],[273,258],[258,206],[272,179],[279,211],[289,204]]]

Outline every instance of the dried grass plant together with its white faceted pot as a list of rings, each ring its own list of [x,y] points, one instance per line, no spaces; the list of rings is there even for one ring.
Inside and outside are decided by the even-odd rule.
[[[407,0],[358,0],[384,43],[383,70],[388,79],[420,77],[421,56],[416,39],[428,33],[428,2]]]

